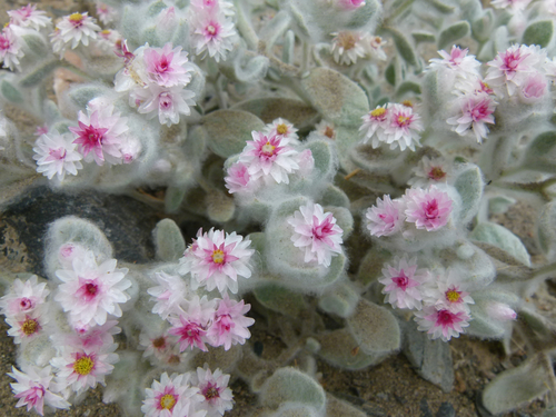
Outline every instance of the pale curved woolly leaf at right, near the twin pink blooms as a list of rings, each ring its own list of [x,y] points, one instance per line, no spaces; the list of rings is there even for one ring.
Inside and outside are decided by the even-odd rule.
[[[530,267],[529,254],[522,240],[503,226],[493,222],[478,224],[469,238],[496,246],[523,265]]]

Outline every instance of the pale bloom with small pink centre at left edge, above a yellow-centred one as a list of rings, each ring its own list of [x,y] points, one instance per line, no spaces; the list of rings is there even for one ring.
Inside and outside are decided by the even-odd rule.
[[[47,282],[38,282],[33,275],[27,281],[16,279],[10,290],[0,298],[0,312],[8,318],[33,311],[46,302],[50,294]]]

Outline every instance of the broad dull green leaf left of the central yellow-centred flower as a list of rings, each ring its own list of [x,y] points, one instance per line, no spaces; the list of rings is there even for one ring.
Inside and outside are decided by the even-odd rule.
[[[241,152],[252,140],[251,131],[265,128],[258,117],[241,110],[217,110],[205,116],[202,122],[210,150],[222,158]]]

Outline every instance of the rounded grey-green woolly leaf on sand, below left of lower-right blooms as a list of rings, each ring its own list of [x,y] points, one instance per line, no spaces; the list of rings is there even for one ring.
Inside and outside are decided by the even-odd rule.
[[[347,324],[366,354],[387,354],[399,349],[401,339],[398,321],[384,307],[361,299]]]

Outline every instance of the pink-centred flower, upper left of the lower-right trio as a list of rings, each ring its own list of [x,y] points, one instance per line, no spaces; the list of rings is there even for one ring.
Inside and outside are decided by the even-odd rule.
[[[383,268],[383,277],[378,281],[385,285],[385,301],[395,308],[421,309],[420,287],[429,279],[429,274],[427,269],[417,269],[417,258],[395,258],[394,266],[387,264]]]

